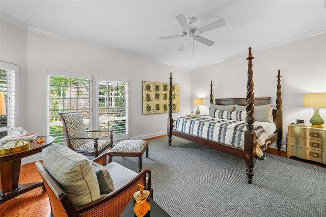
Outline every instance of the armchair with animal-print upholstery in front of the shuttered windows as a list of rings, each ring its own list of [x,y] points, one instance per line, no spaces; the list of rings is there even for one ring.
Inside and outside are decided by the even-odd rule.
[[[107,148],[113,146],[113,130],[86,130],[83,116],[79,112],[59,113],[63,123],[67,145],[70,149],[84,155],[97,157]],[[110,141],[88,137],[89,132],[108,132]]]

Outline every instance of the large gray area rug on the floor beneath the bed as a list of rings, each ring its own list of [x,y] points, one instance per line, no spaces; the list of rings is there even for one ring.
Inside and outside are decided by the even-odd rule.
[[[154,201],[173,216],[326,216],[326,169],[266,153],[252,184],[244,162],[177,137],[149,141]],[[138,172],[137,157],[113,161]]]

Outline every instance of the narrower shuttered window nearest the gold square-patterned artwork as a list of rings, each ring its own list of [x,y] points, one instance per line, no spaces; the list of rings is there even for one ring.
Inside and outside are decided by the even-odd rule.
[[[98,129],[113,129],[115,139],[129,138],[128,86],[128,80],[98,81]]]

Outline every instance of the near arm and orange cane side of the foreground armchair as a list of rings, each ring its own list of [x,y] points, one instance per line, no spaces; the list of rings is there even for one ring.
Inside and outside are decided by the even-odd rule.
[[[120,216],[124,208],[133,197],[133,193],[139,191],[137,184],[146,186],[146,177],[148,176],[147,190],[150,191],[150,197],[153,198],[153,189],[151,188],[151,171],[144,169],[137,176],[131,179],[123,186],[106,196],[76,208],[79,215],[88,216]],[[115,214],[115,215],[114,215]]]

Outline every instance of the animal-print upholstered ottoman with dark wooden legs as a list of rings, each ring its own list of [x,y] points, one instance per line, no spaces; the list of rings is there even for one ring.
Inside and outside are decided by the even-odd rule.
[[[108,150],[112,156],[121,157],[138,157],[138,169],[142,171],[142,156],[146,150],[146,157],[148,157],[148,141],[144,140],[123,140],[112,149]]]

